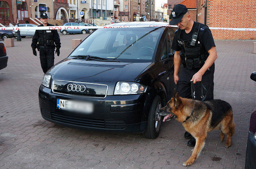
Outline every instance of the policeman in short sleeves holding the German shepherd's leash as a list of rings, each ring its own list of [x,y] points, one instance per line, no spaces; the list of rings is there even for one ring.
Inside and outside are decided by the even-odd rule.
[[[208,26],[192,21],[185,5],[174,6],[171,15],[170,25],[179,27],[175,31],[171,46],[171,49],[176,51],[174,54],[176,90],[181,97],[191,98],[191,82],[193,82],[195,99],[202,100],[203,84],[207,89],[205,100],[213,100],[214,61],[217,59],[217,52],[212,33]],[[184,136],[186,139],[191,138],[187,143],[188,146],[196,145],[196,140],[190,133],[186,131]]]

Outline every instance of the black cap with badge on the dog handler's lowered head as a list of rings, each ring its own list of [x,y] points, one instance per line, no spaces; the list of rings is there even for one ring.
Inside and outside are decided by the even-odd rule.
[[[182,5],[182,4],[175,5],[171,12],[172,18],[170,21],[170,25],[176,25],[177,23],[179,23],[183,15],[185,15],[187,11],[188,10],[185,5]]]

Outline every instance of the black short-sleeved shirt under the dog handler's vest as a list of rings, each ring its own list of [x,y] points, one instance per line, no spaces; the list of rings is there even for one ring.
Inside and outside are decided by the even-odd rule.
[[[194,30],[194,26],[195,26],[195,22],[193,24],[193,27],[192,27],[190,33],[186,33],[185,30],[181,30],[180,38],[182,40],[191,39],[192,34],[193,34],[193,30]],[[203,32],[202,38],[198,39],[198,41],[200,43],[202,43],[202,45],[205,47],[206,51],[210,50],[213,46],[215,46],[213,36],[212,36],[212,32],[210,31],[210,29],[205,29],[205,31]],[[178,46],[178,42],[176,40],[176,34],[174,36],[174,40],[172,42],[171,49],[175,50],[175,51],[181,51],[181,48]]]

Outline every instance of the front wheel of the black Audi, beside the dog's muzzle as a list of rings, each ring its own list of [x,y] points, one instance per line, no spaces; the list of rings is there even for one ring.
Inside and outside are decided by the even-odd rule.
[[[155,139],[160,133],[162,120],[158,113],[160,108],[162,108],[161,97],[156,95],[149,110],[146,130],[143,133],[147,139]]]

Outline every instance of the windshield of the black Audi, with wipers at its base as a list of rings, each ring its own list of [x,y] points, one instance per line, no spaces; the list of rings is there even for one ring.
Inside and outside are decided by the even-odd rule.
[[[151,62],[162,31],[159,28],[97,29],[69,58],[91,55],[121,62]]]

